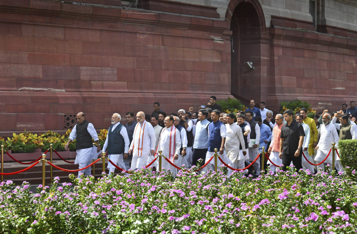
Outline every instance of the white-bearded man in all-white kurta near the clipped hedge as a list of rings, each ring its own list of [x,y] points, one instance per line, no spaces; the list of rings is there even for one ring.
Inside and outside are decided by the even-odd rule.
[[[337,135],[337,130],[335,125],[330,124],[331,120],[331,115],[328,113],[323,114],[322,116],[322,123],[323,125],[321,126],[321,131],[320,131],[320,141],[318,142],[316,146],[317,154],[315,157],[315,161],[317,163],[322,162],[327,154],[328,151],[331,149],[332,142],[336,143],[336,147],[338,146],[338,135]],[[330,163],[330,170],[335,170],[332,169],[332,152],[328,156],[328,158],[325,160],[324,163],[320,164],[317,166],[317,169],[324,170],[324,164]],[[336,158],[335,158],[335,164],[336,164]]]

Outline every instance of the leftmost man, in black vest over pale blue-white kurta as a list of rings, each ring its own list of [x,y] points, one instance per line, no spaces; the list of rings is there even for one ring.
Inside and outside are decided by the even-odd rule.
[[[75,164],[79,164],[79,168],[84,168],[90,164],[92,159],[98,158],[98,154],[101,152],[98,134],[94,129],[93,124],[89,123],[85,119],[85,114],[80,112],[76,115],[77,124],[73,127],[71,134],[69,135],[68,142],[65,145],[65,149],[68,148],[69,143],[77,138],[76,142],[76,160],[74,161]],[[94,139],[95,143],[97,143],[97,147],[93,146],[92,138]],[[78,172],[78,177],[81,174],[85,174],[89,176],[90,167],[85,170],[80,170]]]

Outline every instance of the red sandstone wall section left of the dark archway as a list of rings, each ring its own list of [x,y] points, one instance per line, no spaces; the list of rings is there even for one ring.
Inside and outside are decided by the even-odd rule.
[[[226,28],[145,11],[0,1],[0,135],[63,130],[64,114],[79,111],[100,129],[114,112],[151,113],[155,101],[171,113],[226,98],[230,43],[214,40]]]

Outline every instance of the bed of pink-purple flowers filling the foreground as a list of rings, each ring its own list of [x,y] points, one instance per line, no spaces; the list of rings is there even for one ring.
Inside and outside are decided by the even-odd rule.
[[[347,168],[348,170],[348,168]],[[355,171],[288,171],[257,179],[142,169],[54,185],[1,184],[0,233],[349,233],[357,231]],[[58,179],[58,178],[57,178]],[[42,189],[39,186],[39,189]]]

